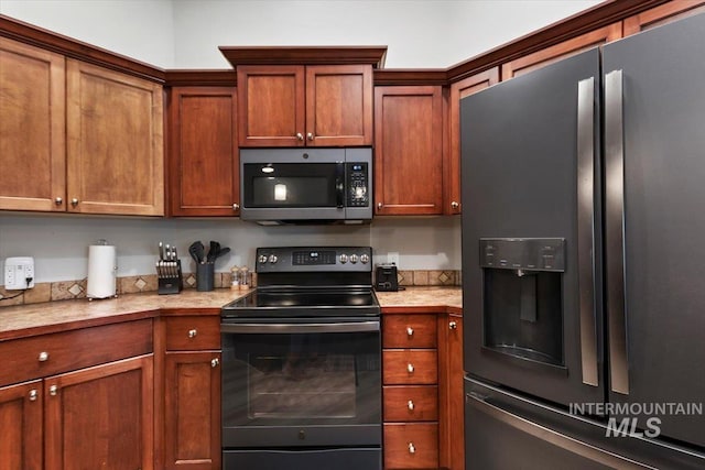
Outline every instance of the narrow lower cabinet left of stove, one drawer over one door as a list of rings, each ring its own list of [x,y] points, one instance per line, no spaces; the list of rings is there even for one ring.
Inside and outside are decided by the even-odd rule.
[[[220,317],[166,317],[164,331],[164,469],[220,469]]]

